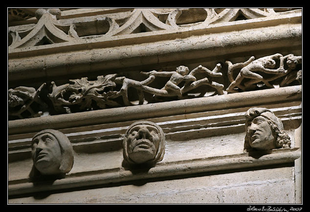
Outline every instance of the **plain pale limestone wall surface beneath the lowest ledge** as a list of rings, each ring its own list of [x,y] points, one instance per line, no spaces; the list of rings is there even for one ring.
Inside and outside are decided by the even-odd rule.
[[[251,170],[24,197],[9,203],[294,204],[292,168]],[[281,193],[283,198],[279,199]],[[243,196],[244,198],[240,198]]]

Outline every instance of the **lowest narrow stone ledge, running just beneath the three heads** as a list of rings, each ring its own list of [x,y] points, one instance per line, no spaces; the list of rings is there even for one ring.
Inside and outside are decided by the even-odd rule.
[[[109,183],[128,182],[159,177],[178,176],[201,172],[233,170],[243,168],[254,168],[259,166],[291,163],[301,156],[299,148],[274,149],[268,154],[257,151],[252,156],[249,153],[229,155],[213,158],[202,158],[188,161],[177,161],[172,163],[158,163],[149,170],[131,171],[114,169],[103,173],[97,171],[88,175],[83,173],[67,175],[64,179],[55,180],[53,183],[42,182],[35,185],[31,182],[18,183],[8,182],[8,195],[17,195],[41,191],[55,191],[61,189],[72,189],[85,186],[104,185]],[[75,176],[76,175],[76,176]],[[27,179],[25,179],[27,180]],[[19,180],[20,182],[22,180]]]

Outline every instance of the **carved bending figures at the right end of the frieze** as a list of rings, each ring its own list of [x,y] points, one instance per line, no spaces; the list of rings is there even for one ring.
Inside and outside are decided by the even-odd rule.
[[[280,62],[277,69],[275,69],[276,61]],[[231,83],[226,90],[229,93],[233,93],[263,86],[274,88],[276,86],[288,85],[295,80],[301,84],[302,71],[297,68],[297,64],[301,63],[302,57],[294,56],[293,54],[287,56],[274,54],[257,60],[252,56],[246,62],[238,64],[226,61],[228,65],[228,79]],[[236,78],[234,78],[234,70],[239,70]],[[270,83],[274,84],[271,85]]]

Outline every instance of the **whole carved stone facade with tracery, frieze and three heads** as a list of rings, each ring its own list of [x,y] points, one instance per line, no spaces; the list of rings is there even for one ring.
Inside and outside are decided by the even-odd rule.
[[[302,204],[301,8],[8,15],[8,204]]]

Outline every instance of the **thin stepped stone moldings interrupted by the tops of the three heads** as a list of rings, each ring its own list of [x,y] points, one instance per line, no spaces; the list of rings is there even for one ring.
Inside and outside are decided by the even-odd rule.
[[[301,101],[287,102],[280,104],[260,105],[273,111],[282,122],[288,122],[289,119],[298,119],[301,116]],[[197,112],[191,114],[181,114],[173,116],[163,116],[158,118],[150,118],[145,121],[155,122],[164,132],[174,133],[178,131],[186,131],[201,127],[223,127],[245,122],[244,113],[251,106],[238,107],[224,110],[212,110],[206,112]],[[73,143],[76,141],[88,140],[95,137],[102,139],[118,138],[119,134],[124,134],[127,128],[135,121],[116,122],[102,125],[89,125],[84,127],[70,127],[60,129]],[[290,125],[289,125],[290,126]],[[36,132],[16,134],[8,136],[8,145],[11,147],[19,147],[30,145],[32,137]]]

